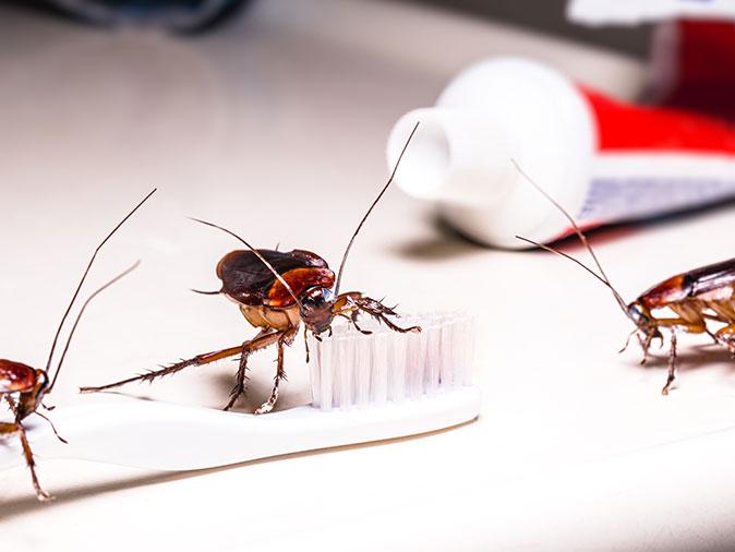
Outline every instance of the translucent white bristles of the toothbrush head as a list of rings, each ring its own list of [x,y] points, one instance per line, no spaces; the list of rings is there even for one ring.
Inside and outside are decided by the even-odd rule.
[[[401,326],[421,332],[393,332],[376,322],[362,322],[365,335],[351,324],[334,327],[330,338],[310,338],[313,351],[313,406],[364,408],[401,403],[471,384],[474,328],[458,313],[405,316]]]

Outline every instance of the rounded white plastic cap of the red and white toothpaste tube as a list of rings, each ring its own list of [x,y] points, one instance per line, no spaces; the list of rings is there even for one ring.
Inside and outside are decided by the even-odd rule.
[[[516,235],[543,242],[566,228],[513,160],[570,213],[581,208],[597,129],[583,95],[557,71],[517,58],[469,68],[436,107],[399,119],[388,137],[390,168],[419,121],[396,182],[435,201],[445,219],[475,240],[523,248]]]

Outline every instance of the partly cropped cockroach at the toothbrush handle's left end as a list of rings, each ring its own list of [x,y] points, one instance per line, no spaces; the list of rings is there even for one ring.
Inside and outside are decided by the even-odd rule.
[[[69,332],[69,336],[67,338],[67,344],[64,345],[64,348],[61,351],[61,357],[59,358],[59,362],[56,365],[53,377],[51,379],[50,377],[51,362],[53,360],[53,353],[56,351],[56,347],[59,341],[61,329],[63,328],[64,323],[67,322],[67,317],[69,316],[69,313],[71,312],[72,307],[74,305],[74,302],[76,301],[76,298],[79,297],[80,291],[82,290],[82,286],[84,285],[84,281],[86,280],[87,275],[89,274],[89,269],[92,268],[92,265],[94,264],[95,259],[97,257],[97,253],[99,253],[99,251],[103,249],[105,243],[107,243],[107,241],[112,237],[112,235],[117,232],[118,229],[131,216],[133,216],[133,214],[155,192],[156,190],[154,189],[150,193],[148,193],[148,195],[146,195],[130,213],[128,213],[128,215],[125,215],[125,217],[122,220],[120,220],[120,223],[118,223],[118,225],[105,237],[105,239],[95,249],[94,253],[92,254],[92,259],[89,260],[84,273],[82,274],[82,279],[77,284],[76,289],[72,295],[72,299],[69,302],[69,305],[67,307],[63,316],[61,316],[61,322],[59,323],[59,327],[57,328],[56,335],[53,336],[53,341],[51,343],[51,350],[49,351],[48,360],[46,361],[46,368],[43,370],[34,369],[27,364],[23,364],[22,362],[0,359],[0,403],[2,403],[3,399],[5,400],[5,403],[8,403],[14,418],[14,421],[12,422],[0,422],[0,437],[8,437],[14,434],[19,435],[21,440],[21,446],[23,448],[23,456],[25,457],[25,463],[28,466],[28,469],[31,470],[31,479],[33,482],[33,488],[35,489],[36,496],[38,497],[39,501],[48,501],[51,500],[52,496],[46,491],[44,491],[40,487],[40,483],[38,482],[38,477],[36,475],[36,464],[33,457],[33,451],[31,449],[31,444],[28,443],[28,437],[26,435],[26,429],[23,425],[23,420],[25,420],[28,416],[33,413],[39,416],[40,418],[49,422],[51,429],[53,430],[53,433],[59,439],[59,441],[61,441],[62,443],[67,443],[67,441],[63,440],[59,435],[59,433],[57,433],[57,430],[53,427],[51,420],[41,412],[39,412],[38,409],[40,407],[44,407],[47,410],[53,409],[53,407],[47,407],[46,405],[44,405],[43,403],[44,397],[48,396],[53,389],[53,386],[56,385],[57,379],[59,377],[59,373],[61,372],[61,367],[63,365],[64,358],[67,357],[67,352],[69,351],[69,346],[71,345],[72,337],[74,337],[74,332],[76,331],[80,320],[82,320],[82,314],[84,314],[84,311],[86,310],[89,302],[95,297],[97,297],[101,291],[104,291],[112,284],[118,281],[120,278],[132,272],[137,266],[138,263],[135,263],[133,266],[131,266],[130,268],[122,272],[121,274],[109,280],[107,284],[98,288],[96,291],[89,295],[89,297],[84,301],[84,303],[82,303],[82,308],[80,309],[79,313],[76,314],[76,319],[72,324],[72,327]]]

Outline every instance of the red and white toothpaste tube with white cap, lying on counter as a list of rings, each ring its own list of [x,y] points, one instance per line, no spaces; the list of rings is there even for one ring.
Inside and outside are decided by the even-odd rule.
[[[585,228],[735,197],[735,128],[715,118],[616,101],[518,58],[460,73],[436,106],[394,127],[388,165],[421,121],[396,176],[465,235],[503,248],[551,242],[566,219],[514,167]]]

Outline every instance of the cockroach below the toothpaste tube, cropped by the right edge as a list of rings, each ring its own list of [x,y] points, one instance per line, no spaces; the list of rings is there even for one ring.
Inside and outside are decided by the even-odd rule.
[[[726,347],[732,353],[735,353],[735,259],[710,264],[666,278],[638,296],[635,301],[626,303],[610,283],[610,278],[607,278],[605,271],[602,268],[587,237],[571,215],[549,193],[541,189],[518,164],[513,163],[523,178],[566,217],[582,245],[589,251],[600,274],[578,259],[567,255],[557,249],[520,236],[516,236],[516,238],[577,263],[612,291],[617,304],[636,326],[628,335],[619,352],[623,352],[628,347],[630,338],[635,335],[643,351],[643,358],[640,363],[646,364],[653,340],[659,339],[659,343],[663,346],[664,337],[662,331],[668,332],[668,372],[666,383],[661,389],[662,395],[668,395],[668,391],[676,379],[677,331],[689,334],[708,334],[716,344]],[[666,316],[664,314],[665,317],[660,317],[656,315],[660,311],[665,312],[665,309],[673,312],[675,316]],[[708,322],[724,325],[712,332],[708,326]]]

